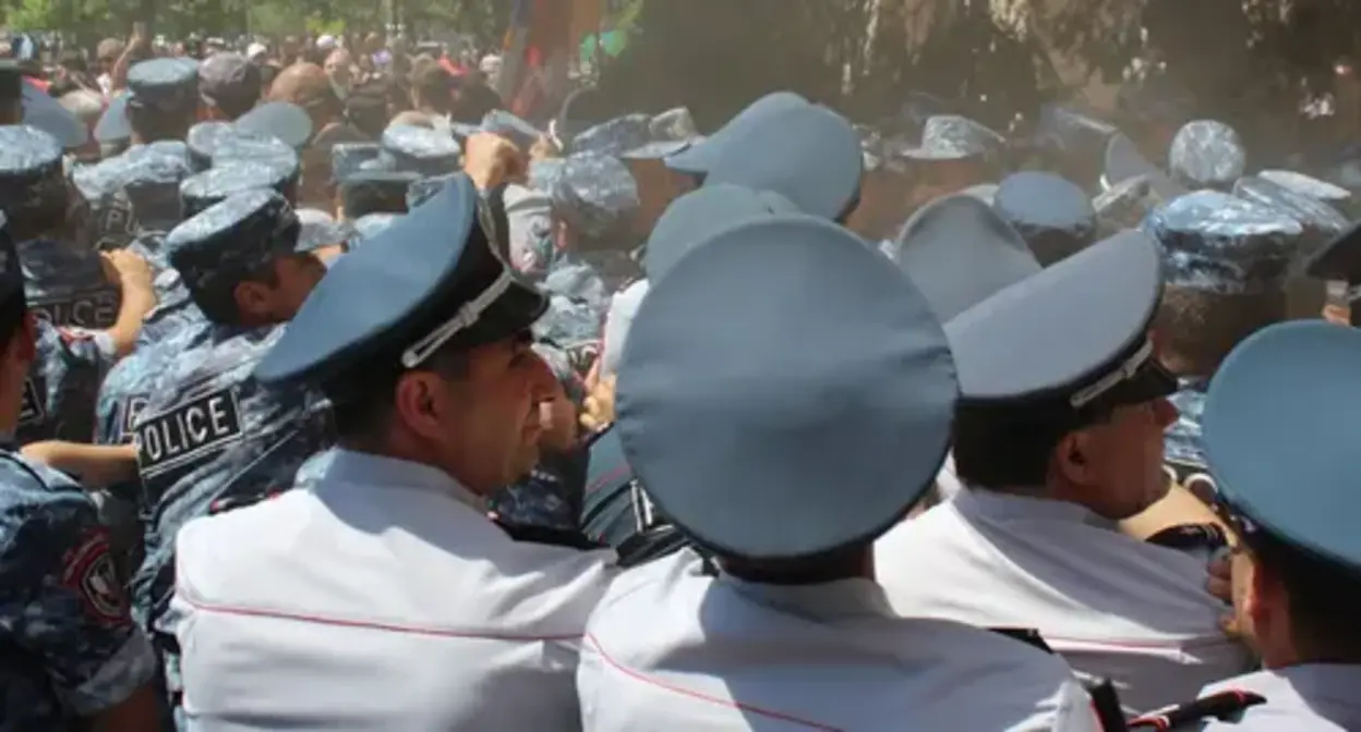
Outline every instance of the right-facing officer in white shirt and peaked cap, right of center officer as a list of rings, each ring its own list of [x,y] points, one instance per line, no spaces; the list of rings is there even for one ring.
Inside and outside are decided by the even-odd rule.
[[[934,244],[949,261],[955,242]],[[980,276],[905,271],[943,293],[951,272],[958,287]],[[1248,663],[1219,630],[1206,558],[1116,531],[1168,490],[1176,380],[1149,339],[1162,284],[1158,244],[1126,231],[953,317],[938,310],[960,369],[953,457],[966,490],[875,547],[897,611],[1034,627],[1079,673],[1112,679],[1130,712]]]

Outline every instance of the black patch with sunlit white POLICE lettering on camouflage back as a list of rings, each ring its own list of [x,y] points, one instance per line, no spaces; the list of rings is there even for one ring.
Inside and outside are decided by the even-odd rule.
[[[154,478],[196,463],[242,437],[233,389],[218,389],[136,420],[137,472]]]

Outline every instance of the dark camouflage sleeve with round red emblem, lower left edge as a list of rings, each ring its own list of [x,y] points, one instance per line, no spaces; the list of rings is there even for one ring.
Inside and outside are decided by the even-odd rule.
[[[0,559],[19,584],[5,593],[15,605],[14,635],[42,664],[67,712],[94,716],[147,683],[155,656],[132,623],[90,499],[48,494],[26,508],[14,539]]]

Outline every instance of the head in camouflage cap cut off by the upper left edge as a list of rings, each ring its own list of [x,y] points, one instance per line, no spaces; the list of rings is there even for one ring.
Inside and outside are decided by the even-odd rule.
[[[0,207],[15,241],[52,235],[68,223],[79,193],[67,185],[61,154],[61,143],[41,129],[0,127]]]

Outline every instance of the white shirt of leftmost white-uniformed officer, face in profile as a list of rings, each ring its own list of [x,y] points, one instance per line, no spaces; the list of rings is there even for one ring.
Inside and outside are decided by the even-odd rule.
[[[512,542],[442,471],[336,450],[177,537],[193,729],[577,729],[611,552]]]

